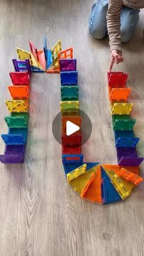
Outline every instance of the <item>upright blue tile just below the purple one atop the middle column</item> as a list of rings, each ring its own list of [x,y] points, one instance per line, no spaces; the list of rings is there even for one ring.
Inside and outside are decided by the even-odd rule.
[[[77,86],[77,76],[78,76],[77,71],[60,72],[61,85],[62,86],[68,86],[68,85]]]

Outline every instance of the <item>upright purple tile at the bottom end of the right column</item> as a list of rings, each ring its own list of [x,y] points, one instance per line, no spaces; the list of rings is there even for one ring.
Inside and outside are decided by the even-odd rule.
[[[131,158],[131,157],[122,157],[118,163],[118,166],[139,166],[144,158]]]

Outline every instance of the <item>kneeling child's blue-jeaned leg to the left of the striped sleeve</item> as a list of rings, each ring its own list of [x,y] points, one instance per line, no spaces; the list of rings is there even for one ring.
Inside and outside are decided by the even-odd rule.
[[[96,0],[96,3],[92,6],[89,18],[89,32],[96,39],[101,39],[107,34],[107,9],[108,0]]]

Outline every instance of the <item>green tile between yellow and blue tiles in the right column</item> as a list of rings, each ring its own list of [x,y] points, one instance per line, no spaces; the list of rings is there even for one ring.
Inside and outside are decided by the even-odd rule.
[[[130,115],[112,115],[113,130],[132,130],[135,122]]]

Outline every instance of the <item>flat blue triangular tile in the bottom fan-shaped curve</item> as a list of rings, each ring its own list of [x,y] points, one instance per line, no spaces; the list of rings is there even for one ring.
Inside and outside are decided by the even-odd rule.
[[[112,185],[109,176],[104,171],[103,167],[101,167],[101,192],[102,192],[102,201],[103,204],[113,203],[121,200],[120,195],[115,190],[114,186]]]

